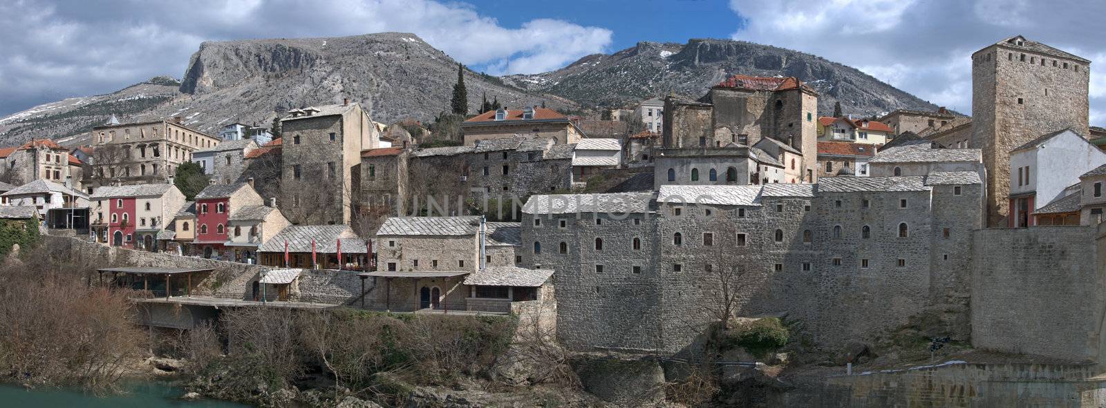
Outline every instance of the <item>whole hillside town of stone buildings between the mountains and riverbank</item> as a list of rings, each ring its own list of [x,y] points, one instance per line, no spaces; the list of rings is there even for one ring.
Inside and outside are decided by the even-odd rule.
[[[970,60],[971,116],[820,112],[806,82],[742,72],[594,116],[462,98],[445,134],[376,122],[342,94],[217,134],[113,115],[81,146],[0,149],[0,218],[34,222],[59,253],[103,254],[92,284],[144,293],[149,327],[254,306],[517,315],[571,352],[688,360],[712,325],[801,322],[833,377],[775,397],[792,406],[917,391],[881,397],[914,377],[858,375],[907,327],[919,349],[1031,355],[950,364],[981,381],[1047,377],[1012,394],[1036,406],[1100,394],[1106,129],[1089,123],[1091,61],[1020,35]],[[789,355],[716,357],[763,370]],[[950,387],[933,398],[970,400]]]

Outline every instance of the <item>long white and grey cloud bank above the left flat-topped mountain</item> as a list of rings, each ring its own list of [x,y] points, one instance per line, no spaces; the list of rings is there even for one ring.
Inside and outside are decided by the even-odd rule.
[[[126,10],[121,13],[118,10]],[[0,1],[0,115],[180,76],[207,40],[413,32],[453,59],[498,74],[538,73],[607,51],[611,30],[538,19],[503,27],[441,0]]]

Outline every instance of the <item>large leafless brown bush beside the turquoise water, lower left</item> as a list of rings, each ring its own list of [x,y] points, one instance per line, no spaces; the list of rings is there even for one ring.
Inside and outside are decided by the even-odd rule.
[[[111,388],[144,355],[129,291],[90,286],[43,247],[0,265],[0,375],[27,385]]]

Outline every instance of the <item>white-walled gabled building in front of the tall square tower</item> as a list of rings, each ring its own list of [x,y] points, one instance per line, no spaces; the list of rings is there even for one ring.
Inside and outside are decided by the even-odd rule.
[[[1079,176],[1106,164],[1106,153],[1072,129],[1037,137],[1010,151],[1008,227],[1036,224],[1033,213],[1060,199]]]

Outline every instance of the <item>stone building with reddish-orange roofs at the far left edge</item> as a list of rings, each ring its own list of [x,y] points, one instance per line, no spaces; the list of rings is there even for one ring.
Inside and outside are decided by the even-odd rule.
[[[83,163],[51,139],[0,149],[0,178],[12,185],[46,180],[81,190]]]

